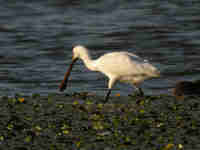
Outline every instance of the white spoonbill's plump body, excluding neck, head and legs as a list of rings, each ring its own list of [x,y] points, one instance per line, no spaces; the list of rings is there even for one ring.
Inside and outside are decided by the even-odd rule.
[[[113,52],[101,56],[96,61],[97,71],[121,82],[139,84],[150,76],[155,76],[155,68],[145,60],[128,52]],[[150,67],[150,68],[149,68]]]

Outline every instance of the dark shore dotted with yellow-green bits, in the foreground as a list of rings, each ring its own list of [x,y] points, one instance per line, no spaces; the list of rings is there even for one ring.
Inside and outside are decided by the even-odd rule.
[[[87,93],[0,98],[0,149],[199,150],[200,98]]]

